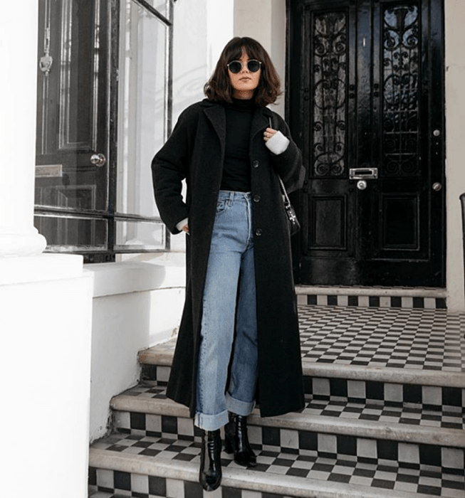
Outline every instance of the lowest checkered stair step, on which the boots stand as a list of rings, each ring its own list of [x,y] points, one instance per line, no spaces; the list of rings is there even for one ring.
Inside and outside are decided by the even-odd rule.
[[[111,496],[135,491],[138,494],[133,496],[137,497],[153,494],[176,498],[464,496],[462,475],[434,465],[392,459],[374,462],[369,457],[357,460],[350,455],[312,450],[287,452],[265,445],[254,445],[254,450],[257,467],[253,470],[239,467],[232,455],[222,452],[221,487],[217,492],[202,494],[197,483],[198,440],[114,434],[90,448],[90,492],[108,492]]]

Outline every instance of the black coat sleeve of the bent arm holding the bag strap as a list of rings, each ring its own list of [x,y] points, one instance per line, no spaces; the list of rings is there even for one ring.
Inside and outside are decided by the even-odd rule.
[[[288,193],[301,189],[305,179],[305,167],[302,164],[302,154],[291,137],[286,122],[277,114],[273,115],[273,128],[278,129],[289,139],[288,148],[282,154],[271,155],[271,163],[286,186]]]

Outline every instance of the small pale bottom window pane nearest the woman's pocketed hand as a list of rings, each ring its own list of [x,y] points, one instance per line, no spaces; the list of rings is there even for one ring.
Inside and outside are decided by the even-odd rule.
[[[163,223],[145,221],[117,221],[117,250],[164,250]]]

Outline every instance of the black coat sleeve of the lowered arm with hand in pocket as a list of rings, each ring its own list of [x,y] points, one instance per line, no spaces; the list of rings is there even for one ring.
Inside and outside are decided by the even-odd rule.
[[[160,217],[171,233],[179,233],[177,223],[188,218],[189,206],[182,197],[182,181],[188,178],[196,113],[184,110],[167,142],[152,159],[152,181]]]

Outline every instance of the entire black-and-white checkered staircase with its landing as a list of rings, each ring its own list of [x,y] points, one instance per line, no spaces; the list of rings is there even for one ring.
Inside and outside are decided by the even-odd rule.
[[[465,498],[465,316],[299,294],[306,408],[251,415],[257,467],[223,453],[221,487],[199,486],[197,430],[164,396],[170,341],[141,352],[140,385],[113,399],[114,432],[90,447],[89,496]]]

